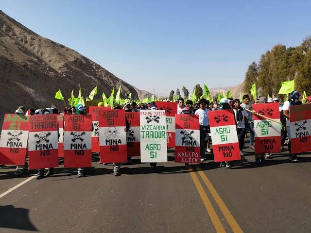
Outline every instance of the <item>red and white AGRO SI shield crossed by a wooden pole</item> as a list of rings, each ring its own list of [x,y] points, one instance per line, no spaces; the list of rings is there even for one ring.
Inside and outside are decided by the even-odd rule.
[[[278,103],[253,104],[260,115],[280,122]],[[281,124],[261,116],[253,115],[255,132],[255,153],[272,153],[281,151]]]

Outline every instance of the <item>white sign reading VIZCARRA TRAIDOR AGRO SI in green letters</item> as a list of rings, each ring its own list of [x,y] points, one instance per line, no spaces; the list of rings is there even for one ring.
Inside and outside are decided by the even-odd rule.
[[[167,162],[166,116],[164,110],[145,110],[140,116],[140,160]]]

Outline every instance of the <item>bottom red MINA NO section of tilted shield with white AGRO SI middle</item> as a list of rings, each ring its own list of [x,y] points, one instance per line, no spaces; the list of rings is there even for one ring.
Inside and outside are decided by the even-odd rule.
[[[239,143],[213,145],[215,162],[241,160]]]

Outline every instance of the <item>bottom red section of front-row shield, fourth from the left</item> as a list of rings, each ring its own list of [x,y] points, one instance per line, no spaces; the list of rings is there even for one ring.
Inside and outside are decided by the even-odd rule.
[[[127,145],[101,146],[101,163],[127,162]]]

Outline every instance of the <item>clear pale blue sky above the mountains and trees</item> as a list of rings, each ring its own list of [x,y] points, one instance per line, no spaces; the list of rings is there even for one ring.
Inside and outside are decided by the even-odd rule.
[[[311,0],[1,0],[0,9],[162,95],[234,86],[266,50],[311,35]]]

